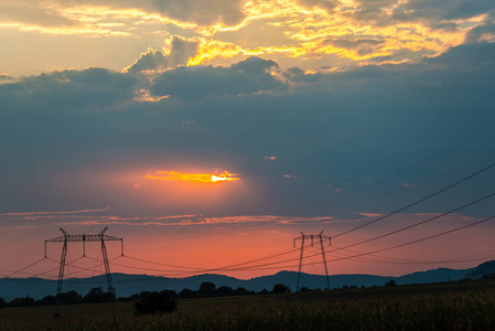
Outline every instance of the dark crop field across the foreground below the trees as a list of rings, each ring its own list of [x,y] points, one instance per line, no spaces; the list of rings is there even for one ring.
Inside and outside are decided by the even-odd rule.
[[[0,309],[0,330],[495,330],[495,281],[179,301],[134,317],[132,302]]]

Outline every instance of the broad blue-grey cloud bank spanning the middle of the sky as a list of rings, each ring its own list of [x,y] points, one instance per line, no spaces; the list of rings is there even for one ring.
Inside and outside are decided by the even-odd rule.
[[[256,57],[230,67],[179,67],[152,86],[153,93],[172,95],[161,103],[133,102],[138,78],[105,70],[3,84],[0,200],[12,211],[64,204],[64,210],[110,205],[119,214],[181,213],[166,200],[150,206],[133,182],[126,186],[107,178],[128,169],[192,164],[239,173],[252,194],[222,209],[191,205],[187,213],[290,214],[367,186],[492,127],[494,52],[495,44],[470,44],[419,64],[331,74],[279,73],[275,62]],[[357,205],[362,212],[390,211],[481,168],[493,143],[493,135],[480,136],[354,195],[349,206],[310,213],[348,216],[357,202],[384,194]],[[277,162],[266,156],[277,156]],[[465,167],[471,168],[460,171]],[[458,172],[448,175],[452,171]],[[75,175],[80,172],[89,174]],[[88,180],[92,173],[97,180]],[[482,195],[492,181],[485,173],[421,212]]]

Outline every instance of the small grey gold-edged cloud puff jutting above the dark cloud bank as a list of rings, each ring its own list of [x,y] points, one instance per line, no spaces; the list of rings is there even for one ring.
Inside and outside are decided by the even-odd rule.
[[[164,55],[162,52],[148,49],[146,53],[130,66],[123,68],[125,73],[140,73],[140,72],[160,72],[166,68],[173,68],[180,65],[187,64],[187,61],[197,52],[198,43],[190,41],[180,36],[173,36],[170,53]]]

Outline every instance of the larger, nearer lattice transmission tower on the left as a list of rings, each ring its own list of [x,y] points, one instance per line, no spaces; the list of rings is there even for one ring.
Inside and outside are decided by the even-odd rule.
[[[104,265],[105,265],[105,274],[107,276],[107,285],[108,285],[108,292],[111,295],[111,308],[114,312],[114,317],[117,314],[117,308],[115,303],[115,287],[111,282],[111,274],[110,274],[110,264],[108,263],[108,255],[107,255],[107,247],[105,246],[105,241],[107,242],[115,242],[120,241],[120,249],[121,255],[123,256],[123,239],[117,238],[112,236],[108,236],[105,234],[108,227],[105,227],[99,234],[96,235],[69,235],[66,233],[63,228],[61,228],[63,236],[45,241],[45,257],[46,257],[46,243],[64,243],[62,246],[62,257],[61,257],[61,268],[58,270],[58,282],[56,285],[56,296],[55,296],[55,316],[60,316],[60,298],[62,293],[62,284],[64,282],[64,270],[65,270],[65,257],[67,255],[67,243],[68,242],[82,242],[83,243],[83,256],[86,256],[86,242],[100,242],[101,243],[101,256],[104,258]]]

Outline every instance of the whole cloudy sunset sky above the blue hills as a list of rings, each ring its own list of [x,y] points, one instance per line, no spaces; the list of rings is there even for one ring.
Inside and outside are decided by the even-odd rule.
[[[495,222],[385,250],[494,215],[460,209],[495,190],[492,0],[0,8],[1,276],[56,277],[54,243],[13,271],[61,227],[108,227],[112,271],[171,277],[297,270],[301,232],[332,237],[332,275],[492,259]]]

